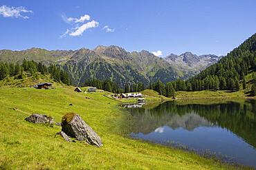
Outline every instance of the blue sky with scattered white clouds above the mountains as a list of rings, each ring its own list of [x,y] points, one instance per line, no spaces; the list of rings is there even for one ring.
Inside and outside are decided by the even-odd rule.
[[[0,49],[118,45],[163,56],[226,55],[256,32],[255,9],[250,0],[0,0]]]

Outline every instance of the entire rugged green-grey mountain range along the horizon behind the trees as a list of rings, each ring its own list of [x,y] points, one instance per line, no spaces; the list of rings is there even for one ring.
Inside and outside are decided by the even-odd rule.
[[[24,59],[62,66],[75,85],[82,85],[86,78],[110,78],[123,86],[128,82],[148,85],[158,79],[165,83],[177,78],[189,78],[217,63],[220,57],[212,54],[196,56],[185,52],[180,56],[170,54],[160,58],[146,50],[127,52],[115,45],[99,45],[93,50],[0,50],[0,61],[16,63]]]

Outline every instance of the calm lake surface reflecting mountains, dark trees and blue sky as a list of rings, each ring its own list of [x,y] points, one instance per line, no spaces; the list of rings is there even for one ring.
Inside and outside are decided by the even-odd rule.
[[[255,100],[209,105],[171,101],[128,109],[134,117],[134,138],[221,153],[256,168]]]

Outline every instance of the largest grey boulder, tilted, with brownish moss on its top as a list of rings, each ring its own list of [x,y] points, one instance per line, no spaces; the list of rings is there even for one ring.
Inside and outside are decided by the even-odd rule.
[[[62,118],[62,131],[77,140],[85,140],[90,145],[102,147],[100,136],[75,113],[68,113]]]

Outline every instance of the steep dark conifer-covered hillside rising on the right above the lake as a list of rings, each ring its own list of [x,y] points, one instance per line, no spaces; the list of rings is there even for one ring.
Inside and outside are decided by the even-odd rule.
[[[256,34],[228,53],[218,63],[190,79],[193,91],[203,89],[239,89],[245,76],[256,69]],[[253,82],[251,82],[253,83]]]

